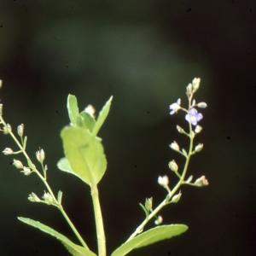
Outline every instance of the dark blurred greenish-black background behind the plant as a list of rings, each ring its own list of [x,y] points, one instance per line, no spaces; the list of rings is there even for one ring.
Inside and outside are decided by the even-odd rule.
[[[90,189],[56,168],[67,95],[78,97],[81,110],[90,103],[97,111],[113,95],[99,134],[108,159],[99,189],[110,255],[143,221],[138,203],[153,196],[156,207],[166,196],[157,177],[177,183],[167,164],[175,159],[183,166],[183,158],[169,144],[186,148],[176,125],[188,126],[183,113],[169,115],[169,105],[181,97],[187,106],[185,87],[200,77],[195,99],[208,108],[195,143],[204,149],[189,174],[206,175],[210,185],[183,186],[181,200],[160,212],[164,224],[187,224],[187,232],[129,255],[256,254],[255,26],[254,1],[0,3],[3,118],[14,131],[25,124],[35,163],[44,148],[49,183],[55,194],[63,191],[63,205],[93,251]],[[16,150],[3,134],[0,146]],[[0,155],[0,254],[68,255],[60,241],[17,219],[39,220],[78,242],[55,207],[26,199],[43,195],[44,184],[11,166],[13,158]],[[20,154],[15,159],[24,161]]]

